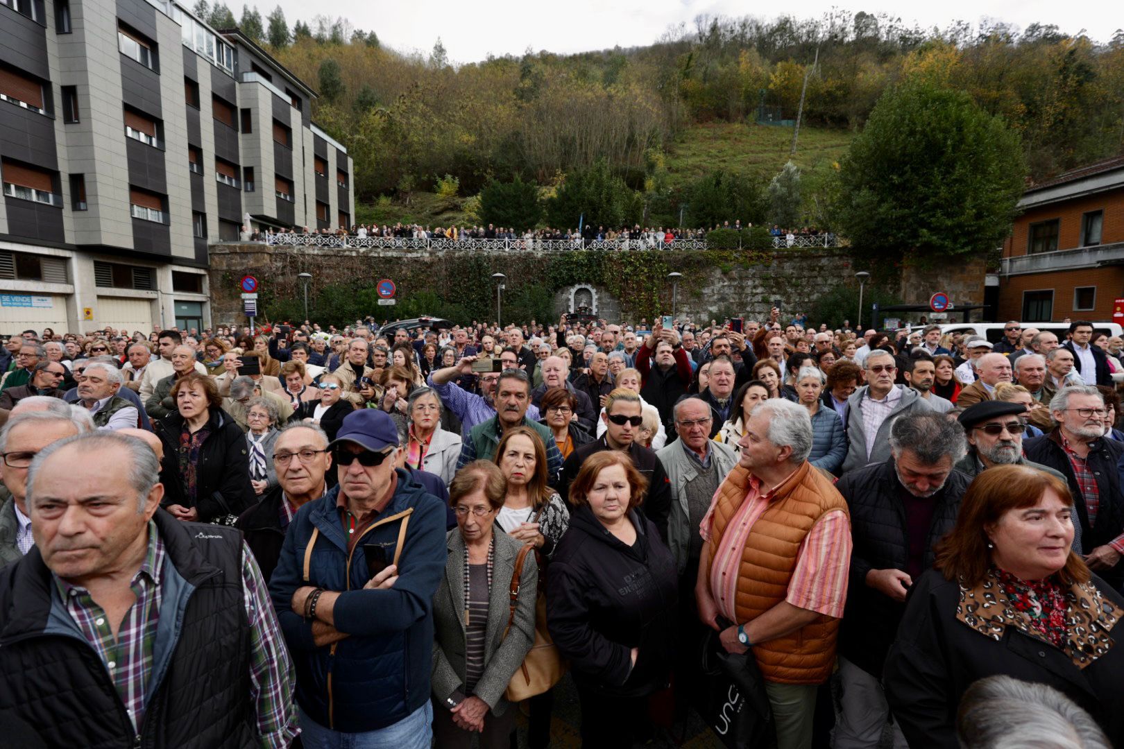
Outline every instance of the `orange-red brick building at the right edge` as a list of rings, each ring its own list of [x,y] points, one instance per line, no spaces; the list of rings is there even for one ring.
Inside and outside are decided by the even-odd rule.
[[[1124,298],[1124,156],[1028,189],[1003,246],[996,320],[1113,320]]]

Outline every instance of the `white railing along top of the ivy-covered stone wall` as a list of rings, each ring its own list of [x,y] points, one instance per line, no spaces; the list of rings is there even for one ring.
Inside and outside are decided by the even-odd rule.
[[[674,241],[650,239],[610,239],[584,241],[582,239],[450,239],[434,237],[413,239],[407,237],[357,237],[335,234],[269,234],[255,235],[255,241],[290,247],[352,247],[356,249],[484,249],[484,250],[566,250],[566,249],[706,249],[706,239],[676,239]],[[839,247],[835,235],[795,237],[791,243],[785,237],[773,237],[774,248],[788,247]]]

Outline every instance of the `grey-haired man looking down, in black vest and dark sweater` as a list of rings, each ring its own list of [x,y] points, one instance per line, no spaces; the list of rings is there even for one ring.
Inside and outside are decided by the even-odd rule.
[[[892,360],[880,353],[867,357],[868,371]],[[964,430],[944,414],[898,417],[888,438],[887,459],[845,472],[835,485],[846,500],[854,542],[839,638],[842,711],[834,746],[840,749],[879,746],[889,716],[882,665],[906,593],[933,565],[933,547],[955,524],[971,483],[954,467],[967,449]],[[894,730],[895,746],[905,746],[897,725]]]

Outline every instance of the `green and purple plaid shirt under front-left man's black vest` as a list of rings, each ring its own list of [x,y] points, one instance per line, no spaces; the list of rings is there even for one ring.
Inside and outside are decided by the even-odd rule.
[[[164,544],[156,523],[148,522],[148,551],[130,587],[136,603],[126,612],[116,639],[106,612],[80,586],[54,576],[66,611],[85,639],[101,657],[114,686],[139,730],[152,686],[153,648],[160,621],[163,574],[166,561]],[[299,733],[292,696],[292,663],[278,627],[265,581],[253,555],[242,546],[242,590],[250,623],[250,681],[260,747],[288,747]]]

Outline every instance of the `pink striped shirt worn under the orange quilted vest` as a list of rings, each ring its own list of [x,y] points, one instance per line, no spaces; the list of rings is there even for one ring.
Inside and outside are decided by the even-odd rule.
[[[791,474],[779,485],[790,476]],[[731,518],[710,559],[710,594],[718,606],[718,613],[732,622],[737,622],[737,575],[742,551],[753,533],[753,524],[773,499],[772,491],[759,494],[760,488],[761,479],[751,474],[750,491],[742,501],[742,506]],[[705,541],[710,540],[717,501],[718,495],[715,494],[699,528]],[[785,600],[798,609],[842,618],[850,565],[851,523],[842,510],[824,513],[800,544]]]

